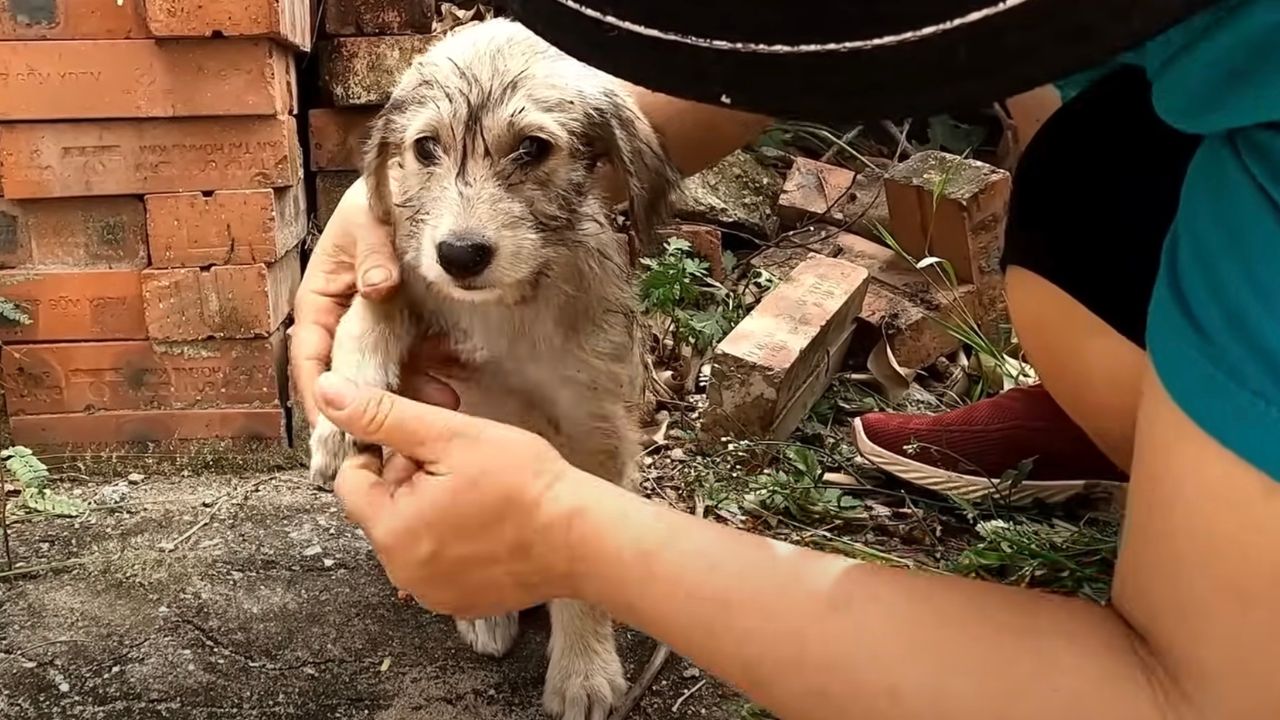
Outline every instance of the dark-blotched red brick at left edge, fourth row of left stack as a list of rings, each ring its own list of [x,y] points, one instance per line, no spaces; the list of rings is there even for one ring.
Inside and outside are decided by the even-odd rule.
[[[0,200],[0,268],[146,265],[147,228],[136,197]]]

